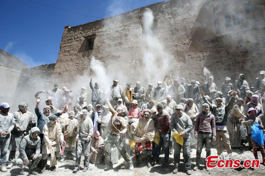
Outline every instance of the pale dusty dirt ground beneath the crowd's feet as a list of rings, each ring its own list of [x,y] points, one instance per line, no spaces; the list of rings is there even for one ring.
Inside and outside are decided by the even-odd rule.
[[[224,147],[223,147],[224,148]],[[235,157],[236,159],[239,159],[241,161],[244,161],[246,159],[254,159],[253,153],[248,150],[247,147],[243,147],[243,151],[237,150],[237,149],[232,149],[233,151],[233,157]],[[217,151],[215,146],[212,146],[212,155],[217,155]],[[224,150],[225,151],[225,150]],[[8,153],[9,154],[9,153]],[[18,152],[17,152],[18,154]],[[261,160],[261,153],[258,151],[258,155],[259,155],[259,159]],[[182,156],[182,155],[181,155]],[[206,156],[206,151],[203,149],[202,152],[202,159],[201,159],[201,167],[199,170],[197,171],[193,171],[192,170],[192,175],[196,175],[196,176],[200,176],[200,175],[220,175],[220,176],[226,176],[226,175],[254,175],[254,176],[259,176],[265,175],[265,166],[264,165],[260,165],[259,168],[238,168],[238,169],[230,169],[230,168],[213,168],[210,172],[207,172],[205,169],[205,166],[203,165],[205,162],[203,162],[203,160],[205,160],[205,156]],[[148,168],[146,166],[146,155],[145,154],[141,154],[140,155],[140,162],[141,165],[140,167],[135,168],[133,171],[130,171],[127,169],[127,163],[123,160],[123,158],[119,159],[119,162],[115,165],[113,165],[114,170],[109,170],[109,171],[104,171],[104,165],[94,165],[94,164],[90,164],[90,168],[91,170],[87,171],[87,172],[82,172],[83,170],[83,156],[81,158],[81,167],[80,167],[80,171],[78,171],[77,175],[107,175],[107,176],[116,176],[116,175],[122,175],[122,176],[130,176],[130,175],[150,175],[150,176],[155,176],[155,175],[186,175],[186,171],[184,170],[185,166],[183,164],[183,158],[180,158],[180,169],[178,170],[177,174],[173,174],[173,170],[174,170],[174,164],[173,164],[173,155],[170,155],[169,158],[169,165],[168,167],[162,167],[161,164],[162,162],[160,162],[157,165],[154,165],[150,168]],[[160,155],[160,160],[163,160],[163,155]],[[191,152],[191,168],[193,169],[194,165],[195,165],[195,160],[196,160],[196,150],[193,149],[193,151]],[[135,158],[132,157],[132,161],[134,163],[135,166]],[[47,163],[49,165],[49,161]],[[50,171],[47,170],[45,171],[44,174],[38,174],[40,175],[47,175],[47,176],[70,176],[70,175],[75,175],[72,173],[72,170],[74,170],[74,164],[75,161],[73,160],[64,160],[64,162],[60,163],[58,162],[57,164],[57,169],[56,171]],[[29,168],[26,167],[24,169],[24,175],[28,175],[28,171]],[[37,170],[38,171],[38,170]],[[11,169],[9,169],[7,172],[3,173],[0,172],[0,176],[16,176],[19,175],[19,167],[17,166],[13,166]]]

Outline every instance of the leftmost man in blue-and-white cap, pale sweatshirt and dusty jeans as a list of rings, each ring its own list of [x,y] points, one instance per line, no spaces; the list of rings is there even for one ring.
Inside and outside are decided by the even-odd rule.
[[[0,148],[1,148],[1,155],[0,155],[0,171],[6,172],[6,153],[9,145],[9,136],[10,132],[13,130],[15,126],[14,116],[13,114],[9,113],[9,106],[8,103],[1,103],[0,104]]]

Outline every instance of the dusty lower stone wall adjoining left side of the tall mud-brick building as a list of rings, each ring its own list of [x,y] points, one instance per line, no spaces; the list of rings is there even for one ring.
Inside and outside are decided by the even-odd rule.
[[[11,112],[18,109],[18,104],[20,102],[26,102],[29,106],[28,111],[34,113],[36,105],[34,95],[36,92],[39,90],[53,89],[54,84],[50,84],[49,82],[52,77],[54,67],[55,63],[26,68],[21,71],[14,96],[13,107],[10,110]],[[41,99],[42,102],[40,107],[43,107],[46,95],[41,94]]]

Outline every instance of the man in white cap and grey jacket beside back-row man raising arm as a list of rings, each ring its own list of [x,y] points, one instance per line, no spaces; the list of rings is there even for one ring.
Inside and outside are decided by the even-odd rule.
[[[112,82],[113,84],[110,87],[110,97],[111,97],[110,103],[114,107],[117,104],[118,99],[123,98],[123,91],[122,87],[118,85],[119,82],[118,79],[113,79]]]

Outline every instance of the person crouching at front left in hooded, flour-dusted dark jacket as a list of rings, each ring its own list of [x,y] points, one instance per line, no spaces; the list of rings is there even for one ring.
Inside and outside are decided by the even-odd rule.
[[[29,174],[38,174],[38,172],[35,171],[35,168],[42,159],[42,154],[40,154],[41,143],[39,134],[39,128],[33,127],[30,133],[22,138],[19,144],[19,156],[15,161],[16,166],[20,167],[19,174],[23,174],[25,166],[29,164],[29,160],[32,160]]]

